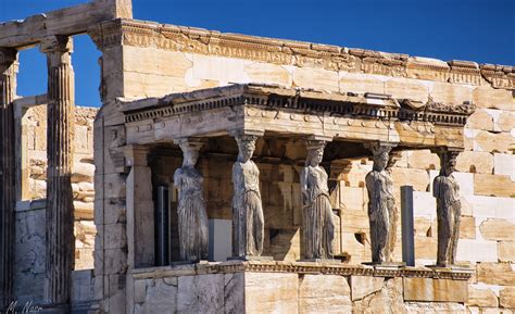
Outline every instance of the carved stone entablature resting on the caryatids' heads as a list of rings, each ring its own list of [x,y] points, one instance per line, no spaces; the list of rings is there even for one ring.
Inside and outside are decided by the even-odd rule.
[[[248,84],[123,103],[122,111],[127,143],[260,129],[460,149],[463,126],[474,105],[423,104],[378,93],[328,93]]]

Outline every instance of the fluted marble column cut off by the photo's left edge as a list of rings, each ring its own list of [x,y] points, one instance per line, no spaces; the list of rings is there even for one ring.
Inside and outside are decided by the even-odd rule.
[[[0,48],[0,309],[13,300],[15,153],[14,108],[17,51]]]

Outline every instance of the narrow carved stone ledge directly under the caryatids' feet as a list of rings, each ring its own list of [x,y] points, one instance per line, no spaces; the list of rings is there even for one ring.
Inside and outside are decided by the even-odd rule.
[[[474,271],[467,268],[384,267],[369,265],[331,264],[324,262],[229,261],[209,262],[133,269],[136,279],[194,276],[227,273],[294,273],[340,276],[412,277],[468,280]]]

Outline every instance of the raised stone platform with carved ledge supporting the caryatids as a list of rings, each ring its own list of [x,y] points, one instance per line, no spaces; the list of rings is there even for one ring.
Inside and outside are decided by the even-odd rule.
[[[472,274],[274,261],[139,268],[131,274],[134,313],[362,313],[385,307],[392,313],[465,313]]]

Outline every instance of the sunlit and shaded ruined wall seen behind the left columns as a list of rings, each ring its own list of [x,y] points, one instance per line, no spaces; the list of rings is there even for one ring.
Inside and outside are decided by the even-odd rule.
[[[93,268],[92,122],[97,109],[75,111],[72,175],[75,206],[75,269]],[[15,291],[18,298],[42,298],[47,178],[47,108],[29,108],[22,120],[22,201],[16,205]]]

